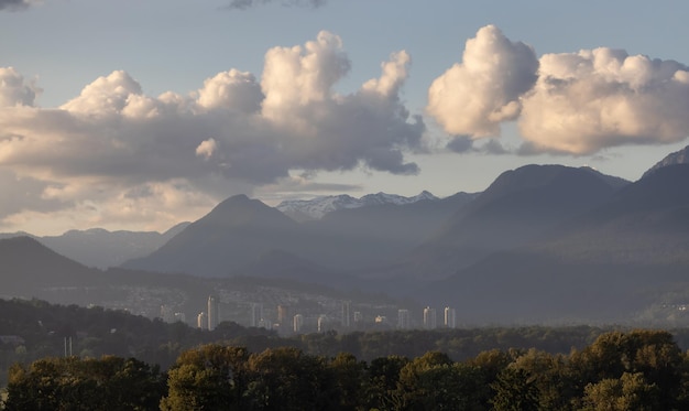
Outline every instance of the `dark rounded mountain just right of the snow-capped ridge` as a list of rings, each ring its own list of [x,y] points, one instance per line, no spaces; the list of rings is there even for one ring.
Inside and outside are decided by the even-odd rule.
[[[492,252],[536,240],[610,199],[622,183],[588,167],[525,165],[504,172],[386,275],[442,278]]]

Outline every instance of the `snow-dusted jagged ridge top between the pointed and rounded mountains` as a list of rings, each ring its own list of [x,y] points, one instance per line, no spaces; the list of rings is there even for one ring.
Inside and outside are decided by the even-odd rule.
[[[422,192],[413,197],[404,197],[396,194],[367,194],[361,198],[354,198],[347,194],[341,195],[328,195],[319,196],[311,199],[288,199],[277,205],[278,210],[287,216],[296,219],[297,221],[304,221],[309,219],[320,219],[326,214],[344,208],[359,208],[376,205],[405,205],[413,204],[419,201],[430,199],[436,201],[438,197],[428,193]]]

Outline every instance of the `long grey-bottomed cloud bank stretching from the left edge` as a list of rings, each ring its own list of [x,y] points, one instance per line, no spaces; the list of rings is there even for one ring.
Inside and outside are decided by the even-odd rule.
[[[162,196],[210,207],[294,170],[416,173],[405,153],[423,149],[425,125],[398,97],[409,65],[405,52],[393,53],[379,77],[338,94],[351,62],[341,40],[321,32],[269,50],[261,76],[229,69],[187,95],[149,96],[114,71],[57,108],[34,107],[36,88],[0,69],[0,171],[35,182],[54,212],[91,209],[83,225],[109,215],[120,226],[134,217],[118,205],[166,224]],[[28,207],[0,207],[0,227],[50,215]]]

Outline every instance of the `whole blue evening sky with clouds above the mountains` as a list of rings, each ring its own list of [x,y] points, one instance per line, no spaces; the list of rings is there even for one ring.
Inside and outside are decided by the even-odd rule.
[[[165,230],[236,194],[635,181],[688,144],[689,3],[0,0],[0,231]]]

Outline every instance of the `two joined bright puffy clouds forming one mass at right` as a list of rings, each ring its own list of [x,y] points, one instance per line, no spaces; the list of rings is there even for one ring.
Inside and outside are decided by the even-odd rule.
[[[467,41],[461,63],[436,78],[427,112],[463,152],[468,139],[496,137],[517,120],[518,153],[593,154],[624,144],[683,140],[689,132],[689,69],[675,61],[600,47],[545,54],[495,26]],[[501,145],[486,152],[503,153]]]

